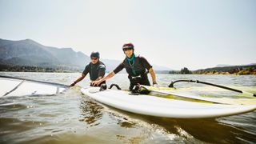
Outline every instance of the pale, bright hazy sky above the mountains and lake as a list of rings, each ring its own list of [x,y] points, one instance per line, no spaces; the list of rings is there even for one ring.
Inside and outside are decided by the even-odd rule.
[[[198,70],[256,63],[255,0],[0,0],[0,38]]]

